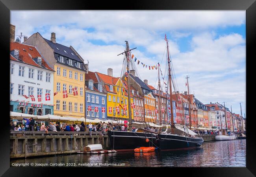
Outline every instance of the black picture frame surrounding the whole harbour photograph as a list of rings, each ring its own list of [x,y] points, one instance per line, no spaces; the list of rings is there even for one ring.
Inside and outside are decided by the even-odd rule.
[[[256,175],[256,139],[254,133],[255,118],[253,116],[255,101],[255,74],[253,71],[253,60],[256,51],[256,2],[255,0],[140,0],[140,1],[124,1],[124,2],[98,2],[98,1],[71,1],[71,0],[0,0],[0,46],[2,54],[2,74],[8,73],[7,66],[9,63],[9,24],[10,10],[246,10],[246,100],[247,100],[247,151],[246,151],[246,168],[163,168],[158,171],[156,168],[143,169],[143,175],[151,174],[154,170],[158,175],[175,175],[174,171],[179,175],[189,176],[254,176]],[[26,24],[24,24],[26,25]],[[4,69],[4,70],[3,70]],[[255,69],[254,69],[255,70]],[[49,176],[49,168],[24,168],[10,167],[9,164],[9,77],[2,77],[2,132],[0,138],[0,175],[1,176]],[[237,86],[239,87],[239,86]],[[243,88],[242,88],[243,89]],[[252,91],[250,91],[250,89]],[[3,94],[4,93],[4,94]],[[250,103],[250,101],[252,101]],[[56,168],[50,168],[56,170]],[[115,168],[116,169],[116,168]],[[137,172],[131,172],[130,168],[121,168],[122,171],[116,171],[113,168],[104,168],[104,173],[100,175],[135,175]],[[59,175],[65,174],[63,168],[56,170]],[[84,168],[76,168],[76,170],[84,170]],[[72,170],[72,175],[77,175],[76,170]],[[88,169],[89,170],[89,169]],[[84,170],[81,175],[88,175],[88,170]],[[119,168],[120,170],[120,168]],[[129,170],[129,171],[128,171]],[[70,171],[70,170],[69,170]],[[95,171],[89,170],[89,171]],[[127,173],[126,173],[127,171]],[[130,173],[129,173],[130,172]],[[120,174],[119,174],[120,173]]]

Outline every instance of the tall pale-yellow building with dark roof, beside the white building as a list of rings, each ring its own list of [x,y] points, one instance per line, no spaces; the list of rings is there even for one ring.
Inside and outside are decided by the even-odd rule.
[[[85,72],[82,57],[72,46],[67,47],[56,42],[56,34],[51,33],[50,40],[45,39],[40,33],[34,33],[25,44],[36,46],[45,61],[54,68],[54,115],[81,118],[85,116]],[[40,73],[36,73],[37,77]],[[41,73],[41,77],[45,73]],[[39,76],[40,77],[40,76]],[[77,89],[77,95],[73,90]],[[63,91],[67,94],[63,94]],[[67,98],[63,98],[67,96]]]

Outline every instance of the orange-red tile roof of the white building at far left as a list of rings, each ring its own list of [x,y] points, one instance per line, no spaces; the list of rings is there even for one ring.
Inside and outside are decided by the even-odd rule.
[[[22,44],[22,43],[19,43],[19,42],[10,42],[10,51],[13,51],[13,50],[19,50],[19,55],[22,56],[22,61],[24,63],[26,63],[28,65],[32,65],[32,66],[37,66],[39,68],[44,68],[43,66],[38,65],[33,60],[33,58],[41,57],[42,62],[45,62],[44,58],[40,55],[39,51],[34,46],[27,45],[27,44]],[[29,54],[31,55],[31,57],[30,57]],[[10,55],[10,60],[19,61],[11,55]],[[46,62],[45,62],[45,68],[48,69],[48,70],[54,71]]]

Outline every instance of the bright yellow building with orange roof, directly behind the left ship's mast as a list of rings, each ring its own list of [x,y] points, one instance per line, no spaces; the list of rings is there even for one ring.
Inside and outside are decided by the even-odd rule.
[[[96,76],[104,83],[104,89],[107,92],[107,119],[127,120],[129,119],[127,90],[124,89],[124,84],[120,77],[113,77],[111,72],[108,72],[108,74],[96,72]]]

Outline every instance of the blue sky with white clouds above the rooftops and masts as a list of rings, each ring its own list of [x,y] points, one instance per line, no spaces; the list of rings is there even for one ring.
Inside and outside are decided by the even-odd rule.
[[[191,92],[202,103],[227,102],[233,112],[245,112],[245,11],[11,11],[16,35],[39,32],[50,39],[72,45],[89,70],[120,76],[125,42],[147,65],[160,62],[170,53],[178,89]],[[101,65],[101,67],[99,67]],[[164,66],[161,67],[164,70]],[[137,69],[141,79],[156,87],[156,70]],[[163,71],[164,72],[164,71]]]

